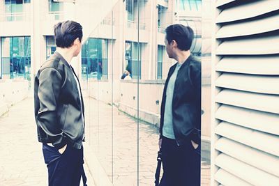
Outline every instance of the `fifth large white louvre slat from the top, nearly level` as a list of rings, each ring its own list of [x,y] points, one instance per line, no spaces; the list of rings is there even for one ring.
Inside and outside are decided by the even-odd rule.
[[[223,73],[216,86],[254,93],[279,94],[279,76],[243,75]]]

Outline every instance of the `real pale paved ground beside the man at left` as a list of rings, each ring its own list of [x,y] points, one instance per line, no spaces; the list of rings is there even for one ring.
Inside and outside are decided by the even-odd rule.
[[[0,117],[0,185],[46,186],[47,166],[37,141],[33,100],[27,98]],[[93,180],[84,164],[89,186]]]

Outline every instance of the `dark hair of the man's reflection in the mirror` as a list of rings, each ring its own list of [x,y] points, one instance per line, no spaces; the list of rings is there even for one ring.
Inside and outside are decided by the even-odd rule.
[[[194,31],[190,28],[190,26],[184,26],[183,24],[172,24],[167,26],[165,32],[168,43],[172,42],[172,40],[175,40],[179,49],[190,49],[194,38]]]

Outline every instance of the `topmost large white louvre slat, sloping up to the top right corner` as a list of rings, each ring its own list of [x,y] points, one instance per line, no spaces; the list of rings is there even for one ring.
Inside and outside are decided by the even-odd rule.
[[[223,10],[216,18],[216,23],[244,20],[279,9],[278,0],[253,1]],[[233,15],[233,16],[232,16]]]

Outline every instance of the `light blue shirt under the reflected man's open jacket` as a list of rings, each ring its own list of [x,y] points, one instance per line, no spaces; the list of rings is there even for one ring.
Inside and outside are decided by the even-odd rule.
[[[163,125],[163,136],[169,139],[175,139],[174,126],[172,123],[172,98],[174,97],[174,84],[177,77],[177,72],[181,68],[182,64],[177,63],[172,76],[169,78],[166,91],[166,102],[165,102],[165,114],[164,114],[164,125]]]

